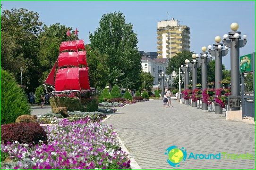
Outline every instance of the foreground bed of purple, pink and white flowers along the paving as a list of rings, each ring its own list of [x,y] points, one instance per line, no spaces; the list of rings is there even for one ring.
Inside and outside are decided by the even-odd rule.
[[[130,169],[116,132],[90,118],[43,127],[48,145],[1,143],[1,169]]]

